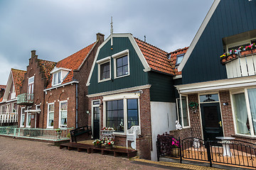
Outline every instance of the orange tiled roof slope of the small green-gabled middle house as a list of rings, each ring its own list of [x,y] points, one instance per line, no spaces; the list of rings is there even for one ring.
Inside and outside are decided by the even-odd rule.
[[[175,75],[174,69],[172,69],[170,61],[167,58],[167,52],[137,38],[134,39],[151,69]]]

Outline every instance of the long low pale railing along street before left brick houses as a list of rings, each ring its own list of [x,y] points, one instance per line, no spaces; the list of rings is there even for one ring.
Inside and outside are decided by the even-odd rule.
[[[38,129],[38,128],[14,128],[14,127],[0,127],[0,135],[11,137],[23,137],[36,140],[69,140],[70,130],[67,129]]]

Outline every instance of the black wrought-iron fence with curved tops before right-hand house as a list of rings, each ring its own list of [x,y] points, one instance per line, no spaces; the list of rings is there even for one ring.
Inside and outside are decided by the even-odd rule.
[[[175,145],[176,144],[176,145]],[[158,135],[157,157],[176,157],[256,168],[256,145],[240,140],[205,141],[196,137],[180,140],[168,134]]]

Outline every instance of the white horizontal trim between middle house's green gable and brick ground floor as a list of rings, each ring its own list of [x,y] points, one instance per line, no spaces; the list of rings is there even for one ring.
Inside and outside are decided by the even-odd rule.
[[[150,84],[147,85],[143,85],[143,86],[134,86],[134,87],[130,87],[130,88],[125,88],[125,89],[119,89],[119,90],[115,90],[115,91],[106,91],[106,92],[102,92],[99,94],[90,94],[87,95],[87,97],[96,97],[96,96],[106,96],[106,95],[110,95],[110,94],[119,94],[119,93],[124,93],[127,91],[134,91],[134,90],[140,90],[140,89],[149,89],[151,87]]]

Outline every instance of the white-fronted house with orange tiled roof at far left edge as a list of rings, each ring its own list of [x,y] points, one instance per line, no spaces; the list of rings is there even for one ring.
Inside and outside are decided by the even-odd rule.
[[[25,73],[26,71],[23,70],[11,69],[6,86],[0,86],[2,94],[0,98],[1,126],[18,124],[17,96],[20,94]]]

